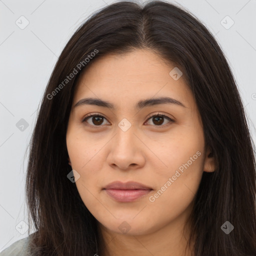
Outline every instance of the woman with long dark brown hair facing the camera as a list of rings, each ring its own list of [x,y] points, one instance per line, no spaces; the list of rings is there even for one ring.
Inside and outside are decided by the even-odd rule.
[[[37,231],[1,255],[256,255],[253,153],[205,26],[164,1],[108,5],[54,67],[27,169]]]

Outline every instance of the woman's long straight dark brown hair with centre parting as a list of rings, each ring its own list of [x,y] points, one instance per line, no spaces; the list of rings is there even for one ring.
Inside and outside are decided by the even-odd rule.
[[[26,199],[36,229],[31,252],[94,255],[96,244],[103,244],[95,218],[67,178],[67,122],[81,72],[99,56],[135,48],[153,50],[182,70],[216,159],[216,170],[203,172],[190,216],[194,255],[256,255],[255,151],[237,85],[207,28],[165,1],[110,4],[81,24],[62,50],[29,147]],[[234,226],[229,234],[221,230],[225,221]]]

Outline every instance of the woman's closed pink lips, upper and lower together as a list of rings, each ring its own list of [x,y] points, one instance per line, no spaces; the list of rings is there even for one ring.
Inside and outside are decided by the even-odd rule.
[[[152,188],[144,184],[128,181],[114,181],[109,183],[103,188],[106,193],[113,199],[119,202],[131,202],[146,194],[148,194]]]

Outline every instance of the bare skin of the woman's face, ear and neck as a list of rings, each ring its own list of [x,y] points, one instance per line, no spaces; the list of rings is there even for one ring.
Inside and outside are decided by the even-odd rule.
[[[192,209],[203,171],[214,171],[214,158],[205,147],[200,115],[183,77],[174,80],[173,65],[147,49],[127,54],[108,54],[95,59],[79,78],[66,133],[69,164],[75,174],[82,201],[98,221],[105,247],[101,255],[192,255],[185,246]],[[172,97],[176,104],[146,106],[135,103],[146,98]],[[74,104],[96,97],[115,105]],[[173,121],[157,122],[149,114],[164,114]],[[101,122],[90,117],[100,114]],[[126,118],[131,126],[123,131],[118,123]],[[93,126],[94,125],[94,126]],[[101,125],[101,126],[100,126]],[[94,127],[94,128],[93,128]],[[152,202],[152,196],[187,163],[171,185]],[[132,202],[118,202],[103,188],[112,181],[137,181],[152,188]],[[120,230],[127,222],[128,232]],[[184,229],[184,231],[183,231]],[[96,253],[96,252],[95,252]]]

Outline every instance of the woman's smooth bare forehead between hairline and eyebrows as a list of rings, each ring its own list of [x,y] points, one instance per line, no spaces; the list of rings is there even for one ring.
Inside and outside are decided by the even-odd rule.
[[[182,75],[176,80],[170,75],[174,67],[145,49],[100,56],[79,77],[73,102],[83,97],[98,97],[131,104],[142,98],[168,96],[191,105],[192,93]]]

